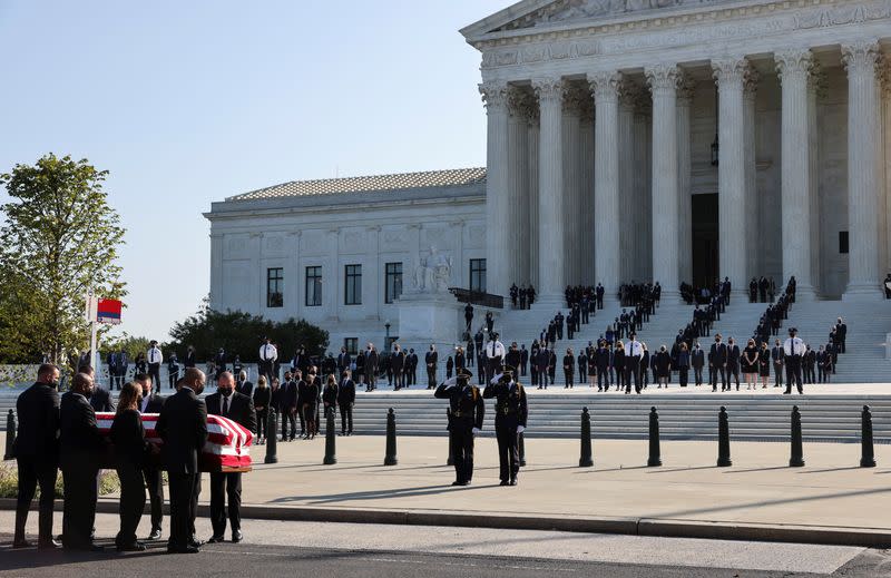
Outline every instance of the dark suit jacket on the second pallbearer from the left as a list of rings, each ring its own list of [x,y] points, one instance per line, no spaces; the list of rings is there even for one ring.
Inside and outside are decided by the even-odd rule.
[[[62,395],[59,422],[61,466],[63,468],[98,467],[107,440],[99,433],[96,412],[87,398],[72,391]]]

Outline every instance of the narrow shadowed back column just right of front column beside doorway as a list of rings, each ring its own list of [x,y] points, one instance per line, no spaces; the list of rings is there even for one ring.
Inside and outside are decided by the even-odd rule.
[[[761,275],[761,238],[758,235],[761,215],[761,198],[757,192],[757,161],[755,158],[755,96],[757,94],[758,74],[751,70],[748,78],[743,84],[743,126],[745,130],[743,143],[743,157],[745,163],[745,203],[750,209],[745,210],[746,228],[746,274],[744,282],[748,286],[748,278]],[[742,287],[741,287],[742,288]]]

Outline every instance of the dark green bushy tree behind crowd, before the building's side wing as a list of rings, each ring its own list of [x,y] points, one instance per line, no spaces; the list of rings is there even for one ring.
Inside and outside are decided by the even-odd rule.
[[[239,355],[244,363],[256,363],[264,336],[276,344],[280,359],[291,359],[298,345],[311,355],[319,355],[327,347],[326,331],[305,320],[275,322],[260,315],[242,311],[225,313],[209,308],[205,302],[202,308],[187,320],[176,323],[170,330],[173,341],[166,344],[176,351],[182,360],[186,347],[195,347],[198,361],[213,359],[219,347],[228,357]]]

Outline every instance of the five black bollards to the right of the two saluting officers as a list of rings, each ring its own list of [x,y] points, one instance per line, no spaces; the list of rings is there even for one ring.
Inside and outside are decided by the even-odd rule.
[[[875,452],[872,440],[872,413],[869,405],[863,405],[861,412],[861,468],[875,467]],[[578,461],[579,468],[590,468],[594,466],[591,453],[591,417],[588,408],[581,409],[581,457]],[[647,458],[648,468],[662,466],[662,452],[659,450],[659,414],[656,408],[649,410],[649,457]],[[717,414],[717,467],[728,468],[733,466],[731,460],[731,433],[727,409],[722,406]],[[797,405],[792,406],[792,431],[791,431],[791,455],[789,459],[790,468],[804,467],[804,449],[802,443],[801,411]]]

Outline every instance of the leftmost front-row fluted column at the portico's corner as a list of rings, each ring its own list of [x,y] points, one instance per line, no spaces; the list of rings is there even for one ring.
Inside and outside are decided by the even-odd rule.
[[[509,185],[508,86],[483,82],[479,86],[486,102],[486,291],[507,296],[510,287],[510,227],[507,226]]]

